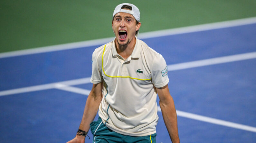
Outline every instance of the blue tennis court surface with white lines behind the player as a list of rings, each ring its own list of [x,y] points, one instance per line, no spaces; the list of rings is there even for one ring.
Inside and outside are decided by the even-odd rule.
[[[168,65],[181,142],[256,142],[255,23],[142,40]],[[0,58],[0,142],[72,139],[99,46]],[[171,142],[158,116],[156,141]]]

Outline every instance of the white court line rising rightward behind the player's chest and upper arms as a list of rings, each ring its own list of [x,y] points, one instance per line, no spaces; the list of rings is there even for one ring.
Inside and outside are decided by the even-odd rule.
[[[213,64],[221,64],[226,62],[248,60],[248,59],[255,59],[255,58],[256,58],[256,52],[251,52],[251,53],[237,54],[232,56],[224,56],[224,57],[198,60],[198,61],[192,61],[192,62],[185,62],[185,63],[179,63],[179,64],[173,64],[173,65],[167,65],[167,66],[168,66],[168,71],[174,71],[174,70],[180,70],[180,69],[202,67],[202,66],[208,66]],[[49,84],[42,84],[42,85],[0,91],[0,96],[52,89],[52,88],[55,88],[56,84],[79,85],[79,84],[86,84],[86,83],[90,83],[90,77],[69,80],[64,82],[49,83]]]

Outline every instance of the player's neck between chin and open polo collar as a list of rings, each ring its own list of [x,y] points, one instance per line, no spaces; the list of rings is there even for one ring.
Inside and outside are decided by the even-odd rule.
[[[117,39],[115,41],[116,43],[116,50],[117,53],[122,56],[124,59],[127,59],[131,54],[136,44],[136,38],[134,37],[127,45],[120,45],[117,42]]]

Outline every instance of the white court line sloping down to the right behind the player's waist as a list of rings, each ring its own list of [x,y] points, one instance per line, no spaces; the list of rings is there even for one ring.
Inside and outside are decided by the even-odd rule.
[[[81,89],[81,88],[77,88],[77,87],[66,86],[63,84],[57,84],[56,88],[60,89],[60,90],[64,90],[64,91],[79,93],[79,94],[86,95],[86,96],[88,96],[90,93],[89,90],[85,90],[85,89]],[[161,108],[159,106],[157,107],[157,111],[161,112]],[[176,110],[176,112],[177,112],[177,116],[194,119],[194,120],[198,120],[198,121],[203,121],[203,122],[207,122],[207,123],[218,124],[218,125],[222,125],[222,126],[226,126],[226,127],[241,129],[241,130],[245,130],[245,131],[256,132],[255,127],[238,124],[238,123],[233,123],[233,122],[228,122],[228,121],[224,121],[224,120],[219,120],[219,119],[206,117],[206,116],[202,116],[202,115],[192,114],[192,113],[188,113],[188,112],[183,112],[183,111],[179,111],[179,110]]]

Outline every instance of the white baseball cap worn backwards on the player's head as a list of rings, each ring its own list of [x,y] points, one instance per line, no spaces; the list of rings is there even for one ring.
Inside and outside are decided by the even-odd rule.
[[[121,9],[121,7],[123,5],[129,5],[132,7],[132,10],[126,10],[126,9]],[[125,12],[125,13],[129,13],[131,15],[133,15],[133,17],[139,22],[139,18],[140,18],[140,13],[139,13],[139,9],[133,5],[133,4],[128,4],[128,3],[123,3],[123,4],[119,4],[115,10],[114,10],[114,13],[113,13],[113,18],[114,16],[119,13],[119,12]]]

